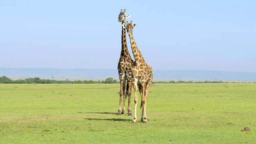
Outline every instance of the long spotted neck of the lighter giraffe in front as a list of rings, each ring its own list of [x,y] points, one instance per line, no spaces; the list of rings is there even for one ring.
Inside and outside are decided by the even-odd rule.
[[[136,42],[133,38],[133,34],[129,35],[131,47],[132,47],[132,54],[134,56],[136,64],[141,64],[142,62],[145,62],[140,50],[138,49]]]

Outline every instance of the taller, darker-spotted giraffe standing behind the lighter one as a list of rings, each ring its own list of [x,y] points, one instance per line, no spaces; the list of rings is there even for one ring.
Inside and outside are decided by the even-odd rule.
[[[122,96],[123,96],[123,110],[121,114],[125,112],[125,100],[128,95],[128,115],[132,115],[131,109],[131,94],[132,94],[132,66],[134,61],[132,60],[130,53],[127,48],[126,43],[126,24],[125,18],[129,18],[129,15],[126,15],[126,10],[122,12],[120,11],[118,22],[122,22],[122,50],[120,54],[120,59],[118,62],[118,74],[120,79],[120,98],[119,98],[119,108],[118,113],[116,115],[120,115],[121,113],[121,103],[122,103]],[[127,86],[126,86],[127,81]]]

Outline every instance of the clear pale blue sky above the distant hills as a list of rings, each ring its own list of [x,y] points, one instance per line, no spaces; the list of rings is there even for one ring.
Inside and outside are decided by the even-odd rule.
[[[117,69],[121,9],[153,70],[256,72],[254,0],[0,0],[0,67]]]

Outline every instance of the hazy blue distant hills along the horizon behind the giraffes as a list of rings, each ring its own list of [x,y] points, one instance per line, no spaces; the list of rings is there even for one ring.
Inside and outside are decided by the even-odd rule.
[[[8,78],[75,78],[119,80],[114,69],[50,69],[0,68],[0,76]],[[154,80],[256,80],[256,72],[226,72],[204,70],[153,70]],[[153,81],[154,81],[153,80]]]

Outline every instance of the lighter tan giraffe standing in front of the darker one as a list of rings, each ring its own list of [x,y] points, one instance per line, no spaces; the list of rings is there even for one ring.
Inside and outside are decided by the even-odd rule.
[[[152,67],[146,63],[144,60],[140,50],[136,46],[136,42],[134,40],[132,29],[136,27],[136,24],[132,25],[132,21],[129,24],[127,22],[126,29],[127,33],[130,37],[130,43],[132,47],[132,54],[134,56],[134,66],[132,67],[132,84],[134,88],[134,102],[135,102],[135,112],[132,123],[136,123],[137,120],[137,104],[138,104],[138,90],[140,91],[141,96],[141,107],[142,114],[140,122],[148,123],[146,116],[146,105],[148,100],[148,92],[153,80]]]

